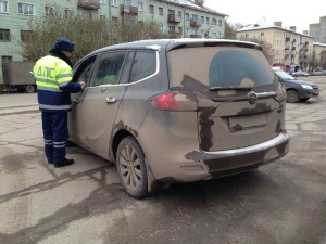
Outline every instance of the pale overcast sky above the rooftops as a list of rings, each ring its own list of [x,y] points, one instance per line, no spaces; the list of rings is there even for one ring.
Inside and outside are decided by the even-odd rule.
[[[204,5],[229,15],[227,22],[231,24],[274,24],[280,21],[283,28],[297,26],[298,33],[309,30],[309,24],[319,23],[319,17],[326,15],[324,0],[205,0]]]

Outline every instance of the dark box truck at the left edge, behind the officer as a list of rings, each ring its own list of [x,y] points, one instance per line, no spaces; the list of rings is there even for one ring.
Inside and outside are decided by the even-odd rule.
[[[33,74],[34,62],[9,61],[3,63],[3,87],[1,92],[35,92],[36,84]]]

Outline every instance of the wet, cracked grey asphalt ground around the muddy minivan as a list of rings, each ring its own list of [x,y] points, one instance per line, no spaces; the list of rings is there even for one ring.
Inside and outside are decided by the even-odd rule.
[[[325,244],[326,77],[309,79],[321,97],[287,104],[285,157],[141,201],[114,165],[77,146],[75,165],[46,164],[40,113],[0,107],[0,243]]]

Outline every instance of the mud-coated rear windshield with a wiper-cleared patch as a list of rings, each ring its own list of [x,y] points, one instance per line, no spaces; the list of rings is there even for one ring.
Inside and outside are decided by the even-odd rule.
[[[198,47],[171,51],[167,59],[171,87],[262,87],[274,82],[271,65],[260,50]]]

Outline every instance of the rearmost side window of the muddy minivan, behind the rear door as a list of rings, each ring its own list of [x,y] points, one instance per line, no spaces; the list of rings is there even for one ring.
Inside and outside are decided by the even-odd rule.
[[[156,72],[156,52],[138,51],[133,61],[130,82],[143,79]]]

